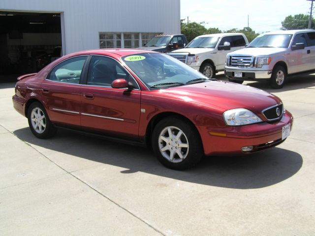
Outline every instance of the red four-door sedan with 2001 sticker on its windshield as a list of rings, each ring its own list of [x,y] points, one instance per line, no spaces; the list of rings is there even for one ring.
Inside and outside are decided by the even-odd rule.
[[[126,49],[72,53],[20,76],[13,104],[38,138],[66,127],[149,145],[171,169],[203,155],[274,147],[293,122],[270,93],[208,79],[164,54]]]

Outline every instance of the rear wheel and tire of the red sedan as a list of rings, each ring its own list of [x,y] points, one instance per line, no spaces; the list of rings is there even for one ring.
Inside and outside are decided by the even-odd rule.
[[[49,138],[56,134],[57,128],[51,123],[42,104],[33,102],[28,109],[29,126],[38,138]]]

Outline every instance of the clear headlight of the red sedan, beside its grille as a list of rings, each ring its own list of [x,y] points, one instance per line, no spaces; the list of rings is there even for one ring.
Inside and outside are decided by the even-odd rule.
[[[245,108],[227,110],[223,113],[223,119],[229,126],[249,125],[262,121],[252,111]]]

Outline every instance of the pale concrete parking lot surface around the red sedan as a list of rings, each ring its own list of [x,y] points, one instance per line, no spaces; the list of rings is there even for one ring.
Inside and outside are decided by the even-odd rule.
[[[0,84],[0,235],[315,235],[315,74],[280,90],[247,84],[283,100],[291,135],[186,171],[71,131],[37,139],[12,106],[14,83]]]

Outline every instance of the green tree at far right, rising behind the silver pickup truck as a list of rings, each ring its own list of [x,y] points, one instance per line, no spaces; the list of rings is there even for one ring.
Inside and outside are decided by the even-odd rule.
[[[294,16],[285,17],[284,21],[281,22],[282,30],[302,30],[307,29],[309,26],[309,16],[304,14],[297,14]],[[312,26],[315,27],[315,20],[312,19]],[[311,26],[311,27],[312,27]]]

